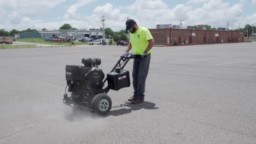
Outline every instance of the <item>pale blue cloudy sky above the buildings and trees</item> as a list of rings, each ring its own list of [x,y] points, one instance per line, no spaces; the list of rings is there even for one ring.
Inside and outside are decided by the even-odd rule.
[[[64,23],[74,28],[125,29],[127,17],[138,26],[158,24],[210,25],[237,29],[256,25],[256,0],[0,0],[0,29],[59,29]]]

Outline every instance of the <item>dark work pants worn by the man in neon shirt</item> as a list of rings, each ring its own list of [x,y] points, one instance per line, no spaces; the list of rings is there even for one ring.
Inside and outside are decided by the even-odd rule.
[[[144,99],[145,84],[148,76],[150,54],[146,58],[133,60],[132,84],[134,95],[137,98]]]

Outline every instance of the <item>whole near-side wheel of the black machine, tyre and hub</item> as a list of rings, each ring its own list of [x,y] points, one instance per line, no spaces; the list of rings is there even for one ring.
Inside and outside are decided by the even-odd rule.
[[[107,94],[100,93],[91,100],[91,107],[101,115],[106,115],[112,107],[112,101]]]

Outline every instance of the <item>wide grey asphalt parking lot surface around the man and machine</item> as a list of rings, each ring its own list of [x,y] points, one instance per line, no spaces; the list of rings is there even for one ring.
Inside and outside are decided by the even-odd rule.
[[[153,47],[144,103],[131,86],[106,116],[62,104],[66,64],[101,58],[106,75],[125,49],[0,50],[0,143],[256,143],[256,43]]]

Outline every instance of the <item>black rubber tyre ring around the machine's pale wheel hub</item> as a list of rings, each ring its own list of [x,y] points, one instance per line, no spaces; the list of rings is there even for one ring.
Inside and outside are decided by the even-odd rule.
[[[101,111],[98,108],[98,103],[102,99],[106,99],[109,103],[108,109],[106,111]],[[97,111],[101,115],[106,115],[110,111],[110,109],[112,108],[112,101],[111,101],[110,97],[107,94],[100,93],[100,94],[95,95],[95,97],[91,100],[91,108],[92,108],[92,110]]]

